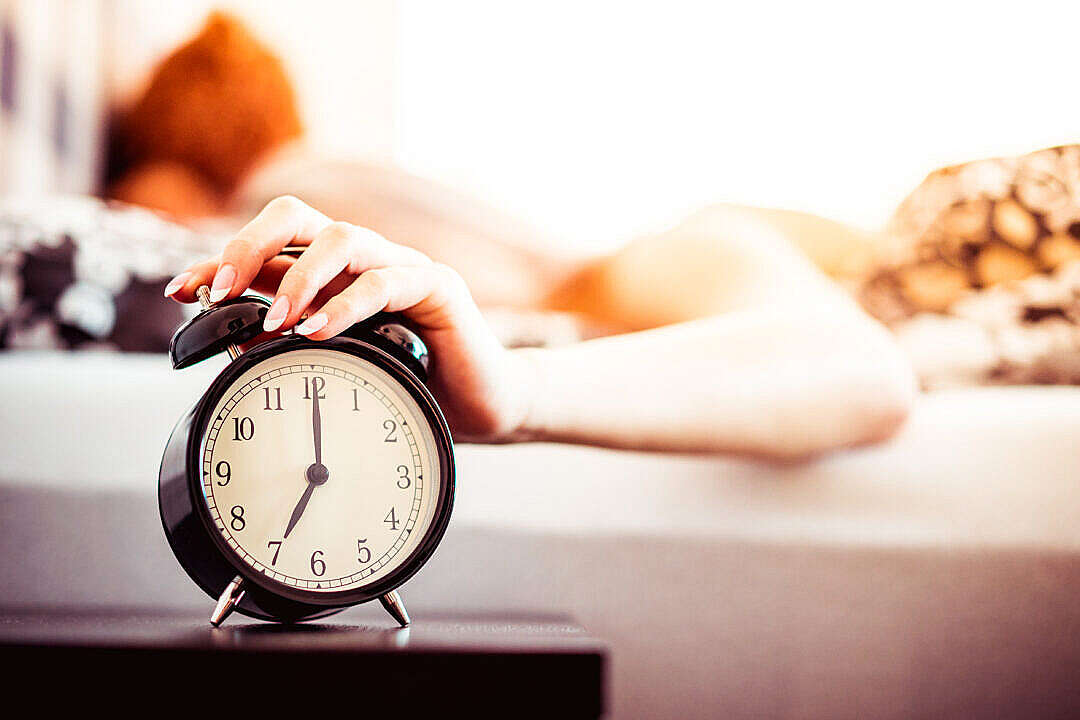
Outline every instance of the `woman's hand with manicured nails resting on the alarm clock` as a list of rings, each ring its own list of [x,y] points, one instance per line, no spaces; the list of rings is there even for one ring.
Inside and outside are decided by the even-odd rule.
[[[308,249],[280,256],[286,245]],[[214,302],[247,288],[272,294],[265,329],[295,327],[312,340],[381,310],[405,315],[431,350],[432,392],[458,439],[512,439],[527,415],[523,358],[499,343],[457,272],[296,198],[270,202],[219,257],[173,279],[165,296],[193,302],[202,285]]]

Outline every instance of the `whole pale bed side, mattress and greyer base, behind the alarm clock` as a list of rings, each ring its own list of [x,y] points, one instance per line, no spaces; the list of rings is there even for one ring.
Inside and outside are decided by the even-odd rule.
[[[224,365],[0,354],[0,603],[208,612],[156,480]],[[1078,424],[1078,389],[974,388],[793,465],[460,445],[445,542],[403,592],[414,616],[571,613],[610,644],[615,718],[1068,717]]]

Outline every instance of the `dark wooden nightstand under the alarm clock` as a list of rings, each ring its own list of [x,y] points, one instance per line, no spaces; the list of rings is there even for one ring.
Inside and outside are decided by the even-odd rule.
[[[407,628],[353,613],[300,625],[243,620],[213,628],[199,612],[0,610],[5,696],[170,717],[604,711],[607,651],[565,617],[419,612]]]

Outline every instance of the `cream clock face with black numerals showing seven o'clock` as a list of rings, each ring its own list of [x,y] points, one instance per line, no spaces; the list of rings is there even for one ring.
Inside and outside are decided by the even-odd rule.
[[[215,406],[200,458],[206,508],[228,546],[301,593],[387,578],[437,510],[442,468],[427,416],[390,373],[336,350],[287,351],[244,371]]]

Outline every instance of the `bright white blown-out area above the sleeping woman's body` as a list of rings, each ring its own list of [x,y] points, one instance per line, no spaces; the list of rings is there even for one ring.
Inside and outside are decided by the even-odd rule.
[[[1080,131],[1075,2],[400,4],[399,158],[571,244],[715,200],[876,227]]]

